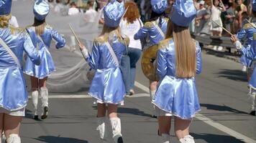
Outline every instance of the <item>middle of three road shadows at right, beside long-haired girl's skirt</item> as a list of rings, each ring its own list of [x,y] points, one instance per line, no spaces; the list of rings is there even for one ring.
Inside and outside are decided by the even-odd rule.
[[[248,114],[247,112],[242,112],[239,111],[237,109],[231,108],[231,107],[227,107],[226,105],[214,105],[214,104],[200,104],[201,107],[206,107],[207,109],[213,109],[213,110],[217,110],[217,111],[221,111],[221,112],[233,112],[233,113],[237,113],[237,114]]]

